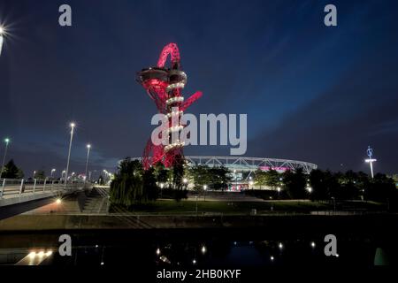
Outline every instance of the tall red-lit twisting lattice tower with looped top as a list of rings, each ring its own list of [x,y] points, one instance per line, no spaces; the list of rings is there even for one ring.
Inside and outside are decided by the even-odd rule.
[[[167,58],[170,55],[171,66],[165,67]],[[184,142],[180,140],[173,140],[172,136],[178,134],[184,128],[180,124],[180,118],[184,111],[202,96],[202,92],[197,91],[184,101],[184,96],[181,94],[181,89],[187,83],[187,74],[181,71],[180,68],[180,51],[177,44],[170,43],[160,53],[156,67],[143,69],[137,74],[137,81],[148,92],[150,98],[153,99],[157,105],[159,113],[167,115],[169,119],[168,128],[166,129],[167,136],[162,136],[164,141],[160,145],[155,145],[151,139],[147,142],[142,154],[142,165],[147,170],[152,164],[158,162],[165,164],[165,167],[170,167],[177,163],[183,162],[182,147]],[[172,126],[172,121],[177,120],[177,126]],[[172,133],[174,133],[172,135]],[[167,140],[167,141],[166,141]]]

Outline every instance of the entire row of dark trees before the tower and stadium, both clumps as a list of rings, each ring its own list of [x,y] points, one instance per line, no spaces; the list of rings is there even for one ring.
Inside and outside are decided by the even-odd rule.
[[[352,171],[342,173],[317,169],[305,174],[302,169],[283,173],[258,170],[252,181],[255,187],[269,187],[274,195],[290,199],[388,202],[397,196],[394,180],[380,173],[371,179],[364,172]],[[111,182],[111,202],[131,206],[166,195],[180,200],[186,195],[188,184],[195,190],[203,190],[204,187],[224,190],[230,182],[231,174],[223,166],[187,167],[181,163],[166,169],[163,164],[156,164],[144,171],[140,161],[126,158],[119,164],[119,171]],[[183,191],[185,193],[181,193]]]

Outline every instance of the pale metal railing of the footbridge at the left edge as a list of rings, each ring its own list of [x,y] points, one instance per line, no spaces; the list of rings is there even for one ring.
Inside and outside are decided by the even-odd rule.
[[[82,183],[65,183],[51,179],[0,179],[0,199],[4,197],[20,196],[27,194],[40,194],[46,192],[58,192],[81,187]]]

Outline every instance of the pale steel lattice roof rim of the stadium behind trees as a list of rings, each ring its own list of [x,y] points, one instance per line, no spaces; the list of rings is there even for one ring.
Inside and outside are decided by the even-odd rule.
[[[140,157],[132,159],[141,160]],[[237,170],[240,172],[255,172],[257,169],[275,169],[275,170],[295,170],[302,168],[303,172],[309,174],[312,170],[318,168],[317,164],[309,162],[278,159],[278,158],[263,158],[263,157],[205,157],[205,156],[188,156],[185,157],[188,166],[197,164],[205,164],[212,166],[226,166],[229,170]]]

